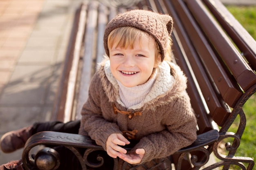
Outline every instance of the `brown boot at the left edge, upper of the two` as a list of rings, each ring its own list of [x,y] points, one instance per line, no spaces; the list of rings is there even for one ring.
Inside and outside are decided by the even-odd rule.
[[[4,153],[10,153],[17,149],[23,148],[27,139],[32,134],[32,126],[28,126],[19,130],[7,132],[0,139],[1,150]]]

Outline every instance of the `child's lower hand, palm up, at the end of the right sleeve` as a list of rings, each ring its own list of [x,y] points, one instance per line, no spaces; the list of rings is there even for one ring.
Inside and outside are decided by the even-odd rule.
[[[130,154],[121,153],[121,156],[119,156],[119,158],[123,159],[124,161],[130,164],[137,164],[141,162],[144,155],[145,155],[145,150],[141,148],[141,149],[136,149],[135,153],[130,153]]]

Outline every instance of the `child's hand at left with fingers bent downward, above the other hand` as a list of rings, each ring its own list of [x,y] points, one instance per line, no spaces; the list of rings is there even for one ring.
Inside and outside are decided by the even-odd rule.
[[[120,146],[125,146],[130,144],[130,141],[126,139],[120,133],[112,133],[109,135],[107,142],[106,142],[106,150],[110,157],[117,158],[120,157],[122,154],[126,154],[127,150]],[[120,145],[120,146],[118,146]]]

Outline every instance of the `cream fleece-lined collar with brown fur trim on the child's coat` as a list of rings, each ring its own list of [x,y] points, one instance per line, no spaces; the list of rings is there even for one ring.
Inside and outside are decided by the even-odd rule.
[[[108,96],[109,102],[117,102],[121,106],[124,104],[119,97],[119,86],[117,80],[110,71],[110,61],[104,60],[99,68],[99,77],[103,84],[103,89]],[[186,89],[186,77],[180,68],[170,62],[163,61],[159,64],[158,75],[151,91],[141,103],[131,106],[129,109],[139,109],[145,107],[156,107],[163,102],[170,102],[173,97]],[[167,98],[166,98],[167,97]]]

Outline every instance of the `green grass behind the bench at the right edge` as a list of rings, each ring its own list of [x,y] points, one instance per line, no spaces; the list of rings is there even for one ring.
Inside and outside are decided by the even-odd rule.
[[[252,35],[254,40],[256,40],[256,6],[227,6],[227,9],[234,15],[240,24],[244,26],[249,34]],[[252,95],[252,97],[245,103],[243,110],[247,117],[247,123],[236,156],[252,157],[254,161],[256,161],[256,94]],[[235,132],[238,124],[239,119],[236,119],[234,125],[231,126],[230,131]],[[256,170],[256,166],[254,166],[253,170]]]

